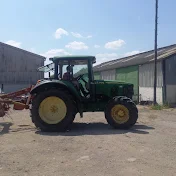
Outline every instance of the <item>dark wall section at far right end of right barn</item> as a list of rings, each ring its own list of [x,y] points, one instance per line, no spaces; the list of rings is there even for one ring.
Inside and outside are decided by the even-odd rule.
[[[165,61],[166,101],[176,103],[176,56]]]

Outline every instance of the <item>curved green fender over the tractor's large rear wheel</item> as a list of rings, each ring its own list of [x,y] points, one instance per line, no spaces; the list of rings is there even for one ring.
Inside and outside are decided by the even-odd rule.
[[[80,102],[80,96],[74,85],[69,81],[60,81],[60,80],[42,80],[38,82],[30,91],[30,94],[33,95],[40,91],[44,91],[51,88],[64,88],[67,89],[71,95],[76,99],[76,101]]]

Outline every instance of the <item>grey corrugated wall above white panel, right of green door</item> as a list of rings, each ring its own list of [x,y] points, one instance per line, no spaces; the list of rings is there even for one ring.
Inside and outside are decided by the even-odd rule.
[[[154,84],[154,63],[139,66],[139,86],[153,87]],[[157,63],[157,86],[163,86],[163,72],[161,62]]]

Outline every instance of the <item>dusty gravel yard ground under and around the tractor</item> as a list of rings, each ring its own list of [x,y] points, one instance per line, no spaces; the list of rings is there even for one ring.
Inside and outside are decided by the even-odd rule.
[[[0,119],[0,176],[176,175],[176,110],[139,107],[131,130],[85,113],[66,133],[36,131],[28,110]]]

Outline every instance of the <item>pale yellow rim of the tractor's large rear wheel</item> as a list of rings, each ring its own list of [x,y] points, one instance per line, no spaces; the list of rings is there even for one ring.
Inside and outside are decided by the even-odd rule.
[[[39,115],[41,119],[48,124],[57,124],[61,122],[67,113],[67,107],[59,97],[45,98],[39,106]]]

